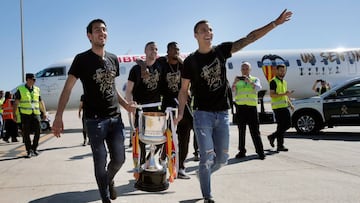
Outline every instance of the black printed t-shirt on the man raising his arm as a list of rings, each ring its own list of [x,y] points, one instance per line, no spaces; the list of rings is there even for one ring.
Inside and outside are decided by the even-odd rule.
[[[195,110],[224,111],[230,108],[225,65],[226,59],[231,57],[232,44],[222,43],[206,54],[196,51],[185,59],[181,77],[191,82]]]

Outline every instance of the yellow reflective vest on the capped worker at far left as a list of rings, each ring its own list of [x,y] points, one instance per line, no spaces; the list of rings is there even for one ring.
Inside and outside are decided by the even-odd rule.
[[[35,114],[40,115],[40,89],[36,86],[33,87],[33,91],[30,92],[25,85],[18,88],[21,99],[19,103],[19,109],[21,114]]]

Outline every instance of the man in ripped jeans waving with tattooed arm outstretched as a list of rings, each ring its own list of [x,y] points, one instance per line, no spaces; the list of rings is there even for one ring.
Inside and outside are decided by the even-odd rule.
[[[246,37],[216,47],[211,43],[213,32],[208,21],[199,21],[194,26],[194,36],[199,47],[184,61],[179,112],[175,123],[184,116],[191,83],[194,95],[194,132],[200,150],[198,176],[205,202],[214,202],[211,195],[211,173],[225,165],[229,157],[228,109],[231,105],[231,89],[226,78],[226,59],[289,20],[291,15],[291,12],[284,10],[275,21],[252,31]]]

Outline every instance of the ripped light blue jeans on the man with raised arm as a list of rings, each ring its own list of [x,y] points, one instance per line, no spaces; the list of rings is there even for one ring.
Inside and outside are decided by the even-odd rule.
[[[211,196],[211,173],[229,158],[228,111],[194,111],[194,132],[200,152],[199,180],[204,198]]]

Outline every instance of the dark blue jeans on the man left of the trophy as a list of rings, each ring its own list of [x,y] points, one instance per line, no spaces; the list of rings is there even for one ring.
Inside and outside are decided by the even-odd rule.
[[[109,199],[109,183],[125,162],[125,135],[121,117],[86,119],[91,150],[93,153],[95,178],[102,200]],[[110,162],[107,164],[107,151]]]

